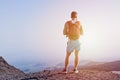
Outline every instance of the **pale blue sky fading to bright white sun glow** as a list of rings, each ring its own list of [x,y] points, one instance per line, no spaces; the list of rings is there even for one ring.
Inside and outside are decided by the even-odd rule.
[[[1,0],[0,56],[13,65],[63,62],[64,24],[77,11],[84,31],[80,60],[120,60],[119,4],[119,0]]]

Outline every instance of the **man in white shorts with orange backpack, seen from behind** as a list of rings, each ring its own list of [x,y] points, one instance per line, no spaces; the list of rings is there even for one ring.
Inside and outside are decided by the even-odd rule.
[[[67,21],[64,26],[63,34],[68,37],[67,42],[67,53],[65,58],[65,67],[63,73],[67,73],[67,68],[69,64],[69,57],[74,51],[75,53],[75,62],[74,62],[74,72],[78,73],[77,67],[79,62],[79,51],[80,51],[80,35],[83,34],[82,26],[80,21],[77,20],[77,12],[72,11],[71,20]]]

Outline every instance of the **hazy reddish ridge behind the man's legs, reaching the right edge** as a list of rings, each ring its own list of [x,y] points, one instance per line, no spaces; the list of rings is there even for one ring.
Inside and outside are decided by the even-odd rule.
[[[69,67],[73,67],[74,64],[69,64]],[[59,63],[56,67],[61,68],[64,67],[64,63]],[[120,60],[112,61],[112,62],[96,62],[96,61],[80,61],[79,62],[80,69],[92,69],[92,70],[103,70],[103,71],[120,71]]]

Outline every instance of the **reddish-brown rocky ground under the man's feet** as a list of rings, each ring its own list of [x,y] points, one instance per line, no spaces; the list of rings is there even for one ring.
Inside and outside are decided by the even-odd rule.
[[[79,70],[79,73],[60,73],[61,70],[44,70],[30,73],[22,80],[120,80],[119,74],[97,70]]]

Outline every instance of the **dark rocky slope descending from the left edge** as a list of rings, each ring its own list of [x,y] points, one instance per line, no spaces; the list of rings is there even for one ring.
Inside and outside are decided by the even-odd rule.
[[[23,76],[24,72],[11,66],[0,56],[0,80],[12,79],[13,77]]]

